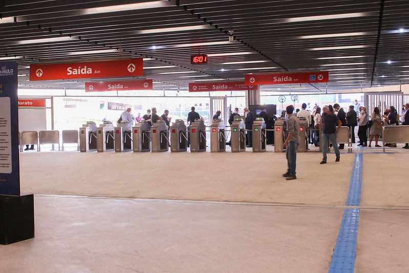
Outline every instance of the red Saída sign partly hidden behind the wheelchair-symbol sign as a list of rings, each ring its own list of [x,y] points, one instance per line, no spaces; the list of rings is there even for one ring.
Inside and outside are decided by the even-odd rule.
[[[244,81],[189,83],[189,92],[242,91],[254,89],[257,89],[257,86],[247,86]]]

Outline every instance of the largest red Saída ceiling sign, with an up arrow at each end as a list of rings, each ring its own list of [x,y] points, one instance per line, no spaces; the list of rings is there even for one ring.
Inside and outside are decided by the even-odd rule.
[[[142,75],[142,58],[30,65],[30,80],[109,78]]]

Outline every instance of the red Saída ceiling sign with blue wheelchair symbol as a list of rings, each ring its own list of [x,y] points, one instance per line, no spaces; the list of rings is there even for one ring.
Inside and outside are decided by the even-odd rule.
[[[310,71],[295,73],[247,74],[246,85],[281,85],[283,83],[328,82],[328,71]]]

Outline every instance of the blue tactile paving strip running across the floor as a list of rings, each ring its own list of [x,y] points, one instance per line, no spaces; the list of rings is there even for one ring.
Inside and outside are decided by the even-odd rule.
[[[349,206],[359,206],[361,202],[362,159],[361,153],[355,154],[346,202],[346,205]],[[359,208],[346,208],[343,211],[328,273],[354,272],[358,219]]]

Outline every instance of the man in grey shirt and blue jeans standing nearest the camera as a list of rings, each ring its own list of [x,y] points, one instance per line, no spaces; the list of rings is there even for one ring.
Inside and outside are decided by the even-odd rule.
[[[295,176],[295,162],[297,159],[297,149],[299,144],[299,122],[298,118],[293,115],[294,107],[292,105],[287,106],[286,112],[288,116],[287,130],[288,137],[283,143],[284,148],[287,148],[286,158],[288,162],[288,170],[283,176],[286,180],[297,179]]]

